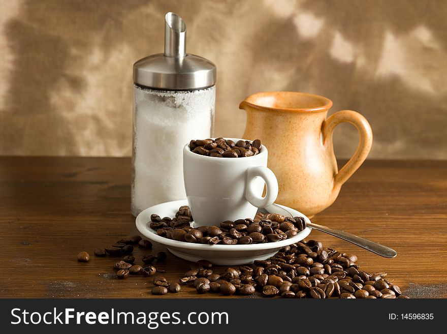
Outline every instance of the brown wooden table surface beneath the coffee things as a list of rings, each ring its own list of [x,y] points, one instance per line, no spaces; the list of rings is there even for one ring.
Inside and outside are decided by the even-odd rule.
[[[138,234],[130,174],[129,158],[1,157],[0,297],[159,298],[150,293],[151,279],[117,280],[116,258],[93,256]],[[410,297],[447,297],[447,161],[366,161],[312,221],[395,249],[397,257],[386,259],[318,231],[308,237],[356,254],[371,274],[388,272]],[[90,253],[90,262],[77,261],[80,251]],[[166,249],[136,247],[134,256],[141,263],[142,255],[159,251]],[[178,280],[189,264],[168,254],[157,267]],[[168,296],[201,297],[190,287]]]

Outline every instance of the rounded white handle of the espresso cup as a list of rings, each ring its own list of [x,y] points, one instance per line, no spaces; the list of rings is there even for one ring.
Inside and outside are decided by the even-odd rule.
[[[267,192],[265,197],[257,194],[254,191],[253,180],[256,177],[261,177],[267,186]],[[246,176],[246,190],[245,190],[245,199],[259,208],[263,208],[269,205],[272,205],[276,197],[278,196],[278,180],[276,179],[275,174],[264,166],[250,167],[247,170]]]

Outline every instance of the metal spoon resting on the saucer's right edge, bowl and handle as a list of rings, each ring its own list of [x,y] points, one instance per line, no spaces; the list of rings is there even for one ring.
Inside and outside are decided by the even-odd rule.
[[[286,210],[284,207],[279,206],[277,204],[272,204],[264,209],[261,209],[261,212],[267,212],[269,214],[276,213],[276,214],[285,215],[285,216],[289,216],[289,217],[296,216],[296,215],[293,215],[288,210]],[[349,241],[354,245],[360,246],[360,247],[362,247],[370,252],[373,252],[375,254],[378,254],[380,256],[390,259],[397,255],[397,252],[394,249],[389,248],[384,245],[381,245],[381,244],[378,244],[377,242],[362,238],[355,234],[346,233],[344,231],[336,230],[336,229],[326,227],[323,225],[318,225],[318,224],[308,223],[308,222],[306,222],[306,223],[307,223],[307,226],[310,226],[311,228],[314,228],[315,230],[322,231],[322,232],[331,234],[333,236],[336,236],[340,239]]]

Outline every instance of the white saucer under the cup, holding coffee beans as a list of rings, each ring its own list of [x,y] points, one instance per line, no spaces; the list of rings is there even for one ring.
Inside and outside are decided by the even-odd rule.
[[[217,265],[241,265],[253,263],[254,260],[265,260],[275,255],[282,247],[295,244],[309,235],[311,228],[306,227],[297,235],[277,241],[265,242],[264,244],[251,245],[204,245],[193,244],[191,242],[176,241],[156,234],[156,231],[149,227],[150,215],[156,214],[160,217],[175,217],[178,208],[182,205],[188,205],[186,199],[157,204],[143,210],[136,219],[137,229],[148,239],[166,245],[167,249],[179,258],[197,262],[199,260],[208,260]],[[294,217],[302,216],[306,222],[310,220],[301,214],[301,212],[292,208],[280,205],[287,209]],[[271,212],[275,213],[275,212]],[[191,222],[194,226],[194,222]]]

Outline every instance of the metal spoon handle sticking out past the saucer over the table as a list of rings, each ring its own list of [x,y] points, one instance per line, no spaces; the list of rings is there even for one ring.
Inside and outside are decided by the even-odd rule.
[[[307,226],[310,226],[311,228],[314,228],[315,230],[331,234],[331,235],[336,236],[340,239],[349,241],[354,245],[360,246],[368,251],[371,251],[375,254],[378,254],[378,255],[386,257],[386,258],[393,258],[397,255],[397,252],[392,248],[378,244],[377,242],[362,238],[361,236],[357,236],[352,233],[346,233],[344,231],[336,230],[333,228],[329,228],[329,227],[314,224],[314,223],[307,223]]]

